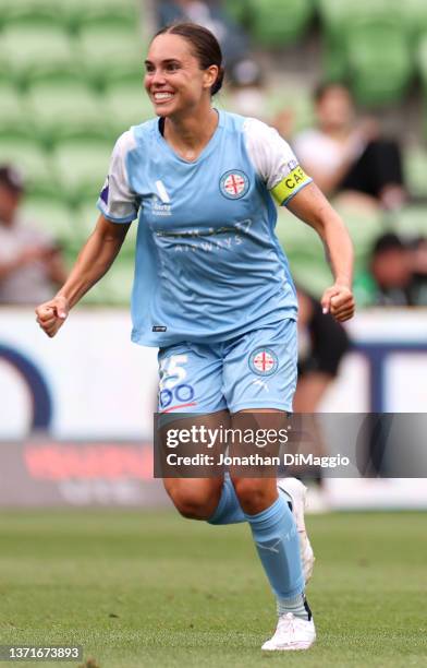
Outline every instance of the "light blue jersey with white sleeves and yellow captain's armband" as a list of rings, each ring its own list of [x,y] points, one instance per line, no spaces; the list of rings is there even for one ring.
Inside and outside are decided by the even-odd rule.
[[[310,181],[276,130],[234,114],[219,111],[194,162],[159,119],[122,134],[98,206],[114,223],[139,218],[132,339],[209,344],[295,320],[273,196],[286,204]]]

